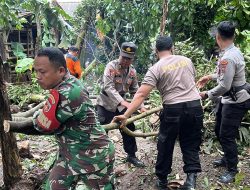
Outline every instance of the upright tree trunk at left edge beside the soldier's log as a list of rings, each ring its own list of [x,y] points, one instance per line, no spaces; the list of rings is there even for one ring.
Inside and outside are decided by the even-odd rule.
[[[8,104],[7,92],[3,80],[3,63],[0,57],[0,140],[3,162],[3,180],[4,185],[9,189],[17,182],[22,175],[22,166],[16,144],[16,138],[13,133],[5,133],[4,120],[10,120],[10,108]]]

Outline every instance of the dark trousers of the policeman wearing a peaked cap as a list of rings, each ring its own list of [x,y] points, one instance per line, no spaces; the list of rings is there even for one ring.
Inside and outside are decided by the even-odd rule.
[[[109,124],[115,116],[121,115],[126,111],[126,109],[124,109],[122,112],[119,112],[118,110],[116,110],[116,112],[110,112],[100,105],[97,105],[96,108],[97,108],[97,115],[101,125]],[[135,131],[134,123],[131,123],[126,127],[131,131]],[[120,132],[122,135],[123,148],[125,152],[130,156],[135,156],[135,152],[137,151],[135,137],[127,135],[122,130],[120,130]]]

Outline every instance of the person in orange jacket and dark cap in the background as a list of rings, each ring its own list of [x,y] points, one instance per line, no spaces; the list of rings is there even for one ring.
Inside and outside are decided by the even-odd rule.
[[[77,47],[70,47],[66,54],[66,63],[70,74],[80,79],[82,76],[82,68],[80,60],[77,57],[78,51],[79,49]]]

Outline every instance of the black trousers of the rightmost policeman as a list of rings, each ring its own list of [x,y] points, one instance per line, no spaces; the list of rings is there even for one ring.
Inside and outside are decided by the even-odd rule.
[[[216,108],[215,134],[224,152],[229,171],[237,171],[238,150],[236,137],[241,120],[250,108],[250,99],[238,104],[222,104]]]

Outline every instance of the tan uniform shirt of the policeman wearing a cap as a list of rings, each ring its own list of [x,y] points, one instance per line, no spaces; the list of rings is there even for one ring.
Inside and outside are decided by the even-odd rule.
[[[138,88],[134,67],[130,65],[128,69],[122,69],[118,59],[111,61],[106,65],[104,71],[102,90],[97,98],[97,105],[115,112],[120,102],[124,101],[125,94],[129,92],[130,95],[134,95]]]

